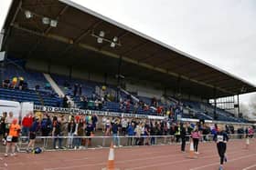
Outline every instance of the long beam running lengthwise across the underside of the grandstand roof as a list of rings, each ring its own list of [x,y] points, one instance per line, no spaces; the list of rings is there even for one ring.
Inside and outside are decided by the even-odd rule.
[[[27,28],[24,28],[24,27],[16,25],[16,24],[14,25],[14,27],[16,27],[16,29],[20,29],[20,30],[26,31],[26,32],[34,34],[34,35],[44,36],[44,37],[48,37],[48,38],[57,40],[57,41],[62,42],[62,43],[70,44],[70,39],[69,38],[66,38],[66,37],[63,37],[63,36],[60,36],[60,35],[51,35],[51,34],[43,35],[42,33],[38,33],[37,31],[29,30]],[[113,54],[112,52],[109,52],[109,51],[99,50],[98,48],[96,48],[94,46],[91,46],[91,45],[85,45],[85,44],[79,43],[78,46],[80,46],[81,48],[84,48],[86,50],[91,50],[91,51],[93,51],[95,53],[99,53],[101,55],[107,55],[107,56],[110,56],[110,57],[113,57],[113,58],[120,58],[120,56],[121,56],[121,55]],[[176,73],[170,72],[170,71],[165,70],[165,69],[160,68],[160,67],[155,67],[153,65],[148,65],[148,64],[145,64],[145,63],[139,63],[136,60],[133,60],[132,58],[129,58],[129,57],[122,56],[122,58],[123,58],[123,61],[128,62],[128,63],[132,63],[134,65],[140,65],[140,66],[143,66],[145,68],[148,68],[148,69],[151,69],[151,70],[155,70],[157,72],[160,72],[160,73],[163,73],[163,74],[167,74],[167,75],[173,75],[173,76],[176,76],[176,77],[179,76]],[[213,85],[208,85],[206,83],[199,82],[199,81],[197,81],[195,79],[190,79],[189,77],[184,76],[184,75],[181,75],[181,78],[182,79],[186,79],[186,80],[191,81],[191,82],[194,82],[194,83],[197,83],[199,85],[205,85],[205,86],[208,86],[208,87],[211,87],[211,88],[214,87]],[[230,94],[228,91],[226,91],[224,89],[221,89],[221,88],[217,88],[217,89],[219,91],[224,92],[224,93]],[[233,94],[230,94],[230,95],[233,95]]]

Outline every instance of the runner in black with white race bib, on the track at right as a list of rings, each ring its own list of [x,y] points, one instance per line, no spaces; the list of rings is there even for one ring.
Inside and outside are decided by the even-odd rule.
[[[227,157],[225,156],[225,153],[227,150],[227,142],[229,141],[229,136],[223,129],[219,128],[214,138],[215,142],[217,143],[218,153],[220,157],[219,170],[223,170],[223,162],[227,162]]]

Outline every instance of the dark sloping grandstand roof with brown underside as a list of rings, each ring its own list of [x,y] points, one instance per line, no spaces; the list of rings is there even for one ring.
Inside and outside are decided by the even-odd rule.
[[[52,26],[43,24],[45,17],[46,23],[53,20]],[[235,75],[68,0],[13,0],[3,29],[3,49],[9,55],[112,75],[122,64],[125,77],[173,89],[179,85],[181,92],[204,98],[256,91],[255,85]],[[111,47],[114,36],[118,41]]]

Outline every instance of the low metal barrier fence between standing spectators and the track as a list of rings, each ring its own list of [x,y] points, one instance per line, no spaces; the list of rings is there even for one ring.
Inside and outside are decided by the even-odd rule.
[[[245,139],[244,134],[229,135],[229,140]],[[254,138],[255,135],[250,135]],[[186,136],[187,143],[190,135]],[[44,150],[53,149],[88,149],[109,147],[111,142],[116,146],[135,146],[135,145],[180,145],[180,137],[175,135],[142,135],[142,136],[37,136],[36,146]],[[202,135],[201,142],[213,142],[213,135]],[[17,144],[18,148],[23,151],[27,147],[27,136],[21,136]],[[0,153],[5,152],[5,147],[0,146]]]

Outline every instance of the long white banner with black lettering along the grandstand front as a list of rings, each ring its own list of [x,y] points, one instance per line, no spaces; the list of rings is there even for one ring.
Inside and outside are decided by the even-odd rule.
[[[49,113],[61,113],[61,114],[89,114],[89,115],[102,115],[102,116],[122,116],[140,119],[164,119],[164,116],[156,115],[136,115],[136,114],[126,114],[118,112],[107,112],[98,110],[82,110],[78,108],[63,108],[63,107],[52,107],[43,105],[34,105],[34,111],[49,112]]]

